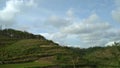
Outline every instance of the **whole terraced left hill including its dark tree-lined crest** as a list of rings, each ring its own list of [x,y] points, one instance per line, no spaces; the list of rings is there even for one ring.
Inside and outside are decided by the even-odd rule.
[[[4,67],[3,64],[26,62],[38,62],[45,66],[64,64],[73,66],[73,62],[78,63],[71,60],[74,59],[74,53],[70,48],[59,46],[41,35],[4,29],[0,30],[0,36],[0,67]]]

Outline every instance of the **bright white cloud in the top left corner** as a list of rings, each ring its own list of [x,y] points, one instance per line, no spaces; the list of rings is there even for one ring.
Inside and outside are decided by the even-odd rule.
[[[23,11],[25,7],[31,7],[35,4],[33,0],[8,0],[5,7],[0,10],[0,25],[11,26],[15,23],[16,16]]]

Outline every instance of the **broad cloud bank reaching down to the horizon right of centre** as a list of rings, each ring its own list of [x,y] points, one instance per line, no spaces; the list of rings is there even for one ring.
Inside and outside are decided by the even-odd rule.
[[[43,36],[62,45],[77,45],[76,47],[87,48],[90,46],[105,46],[109,41],[120,39],[120,30],[113,28],[109,22],[101,20],[95,13],[86,19],[79,20],[80,22],[73,20],[74,22],[67,25],[66,22],[61,23],[57,19],[60,18],[52,17],[51,25],[61,28],[54,33],[43,34]],[[63,21],[63,19],[59,21]]]

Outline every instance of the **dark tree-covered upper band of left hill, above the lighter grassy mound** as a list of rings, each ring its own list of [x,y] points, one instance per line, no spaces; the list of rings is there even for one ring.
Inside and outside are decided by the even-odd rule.
[[[41,35],[34,35],[26,31],[19,31],[14,29],[0,30],[0,45],[10,45],[15,43],[16,41],[23,39],[37,39],[41,40],[41,42],[43,43],[58,45],[57,43],[54,43],[52,40],[47,40]]]

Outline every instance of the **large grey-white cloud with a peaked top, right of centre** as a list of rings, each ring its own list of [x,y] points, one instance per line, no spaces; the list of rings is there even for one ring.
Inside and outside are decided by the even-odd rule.
[[[88,19],[74,23],[62,30],[69,34],[82,34],[103,31],[109,28],[110,24],[108,22],[101,21],[96,14],[93,14]]]

